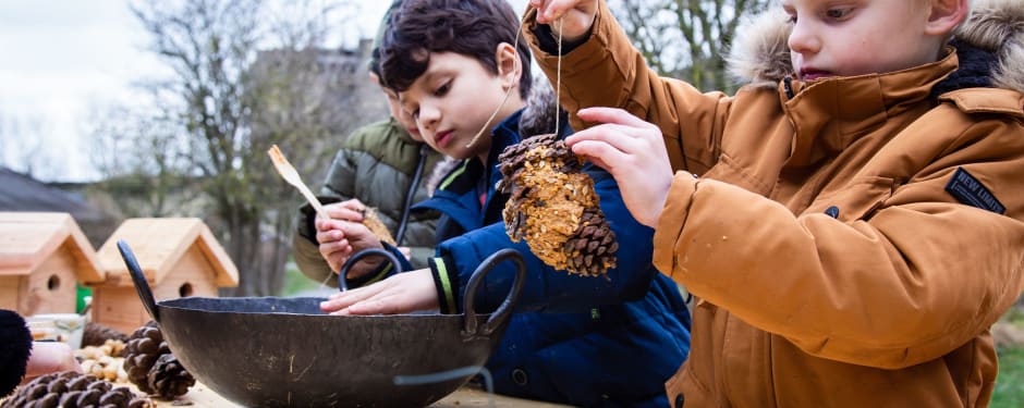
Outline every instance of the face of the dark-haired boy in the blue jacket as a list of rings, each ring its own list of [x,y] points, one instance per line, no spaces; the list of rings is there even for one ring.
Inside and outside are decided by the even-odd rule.
[[[501,103],[507,86],[504,76],[495,75],[475,58],[431,52],[427,70],[409,89],[399,92],[399,99],[419,125],[424,141],[435,150],[460,160],[472,157],[486,160],[489,135],[468,148],[466,145],[481,128],[489,133],[495,124],[519,109],[516,103]],[[498,114],[488,122],[499,104],[502,107]]]

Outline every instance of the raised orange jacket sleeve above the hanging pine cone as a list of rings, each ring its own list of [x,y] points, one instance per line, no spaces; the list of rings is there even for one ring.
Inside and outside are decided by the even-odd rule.
[[[647,67],[604,0],[598,2],[590,37],[561,55],[561,73],[557,49],[546,49],[548,41],[540,40],[539,36],[550,34],[538,32],[536,9],[523,18],[524,36],[537,64],[551,84],[562,84],[559,102],[571,114],[573,128],[589,127],[576,116],[583,108],[620,108],[661,128],[673,169],[700,174],[717,160],[731,98],[718,91],[702,94],[682,81],[659,77]]]

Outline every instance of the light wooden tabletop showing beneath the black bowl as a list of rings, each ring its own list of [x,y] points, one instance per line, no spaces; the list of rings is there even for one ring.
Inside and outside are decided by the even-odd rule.
[[[134,390],[133,387],[133,391]],[[493,405],[491,405],[493,400]],[[195,386],[188,388],[188,394],[185,394],[178,398],[175,401],[160,401],[154,400],[157,403],[157,407],[160,408],[170,408],[170,407],[181,407],[182,404],[191,403],[191,407],[241,407],[240,405],[233,404],[224,397],[217,395],[210,388],[207,388],[205,385],[196,383]],[[176,404],[175,404],[176,403]],[[464,408],[464,407],[497,407],[497,408],[513,408],[513,407],[523,407],[523,408],[556,408],[564,407],[562,405],[543,403],[528,399],[512,398],[503,395],[488,394],[473,385],[465,385],[459,390],[455,390],[454,393],[449,396],[441,398],[441,400],[430,405],[430,408]]]

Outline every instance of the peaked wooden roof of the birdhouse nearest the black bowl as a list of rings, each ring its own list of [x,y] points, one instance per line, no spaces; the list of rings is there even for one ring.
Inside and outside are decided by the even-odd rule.
[[[185,251],[197,246],[206,257],[217,286],[239,285],[239,270],[203,220],[195,218],[129,219],[103,243],[97,255],[107,281],[132,282],[118,240],[127,243],[150,284],[156,285],[173,269]]]

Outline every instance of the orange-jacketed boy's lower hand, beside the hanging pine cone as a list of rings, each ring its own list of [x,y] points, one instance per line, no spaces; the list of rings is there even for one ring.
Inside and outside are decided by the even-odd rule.
[[[576,114],[585,122],[601,124],[576,132],[565,144],[615,177],[622,200],[636,221],[657,225],[672,185],[672,165],[661,131],[621,109],[587,108]]]

